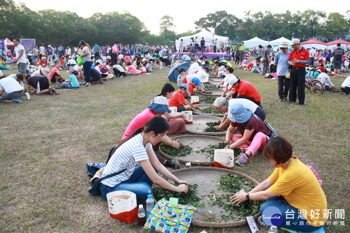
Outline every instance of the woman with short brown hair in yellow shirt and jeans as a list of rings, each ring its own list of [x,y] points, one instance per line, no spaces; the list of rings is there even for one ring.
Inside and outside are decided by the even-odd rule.
[[[323,214],[323,210],[327,210],[327,199],[311,169],[292,153],[292,144],[284,137],[269,140],[263,155],[276,169],[248,193],[238,192],[232,196],[231,202],[267,200],[260,206],[260,212],[270,206],[277,207],[283,217],[281,226],[295,231],[316,231],[327,222],[328,217]]]

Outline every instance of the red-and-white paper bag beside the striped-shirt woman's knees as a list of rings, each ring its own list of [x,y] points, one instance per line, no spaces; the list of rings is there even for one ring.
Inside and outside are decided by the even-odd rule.
[[[125,190],[110,192],[107,194],[107,202],[112,218],[128,224],[138,218],[135,193]]]

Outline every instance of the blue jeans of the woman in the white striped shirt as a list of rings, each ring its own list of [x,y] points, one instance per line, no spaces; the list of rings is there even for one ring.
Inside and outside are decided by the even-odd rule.
[[[158,172],[157,172],[158,173]],[[146,172],[138,165],[135,167],[134,173],[129,179],[110,187],[101,183],[101,194],[107,200],[107,193],[119,190],[126,190],[136,194],[136,198],[147,199],[148,194],[152,194],[151,179],[148,178]]]

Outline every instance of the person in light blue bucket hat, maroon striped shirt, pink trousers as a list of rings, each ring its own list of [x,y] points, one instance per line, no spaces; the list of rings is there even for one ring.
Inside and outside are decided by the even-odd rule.
[[[266,142],[271,137],[271,132],[265,123],[249,108],[241,104],[229,105],[228,119],[231,120],[226,132],[226,142],[232,142],[225,149],[239,148],[245,150],[235,158],[235,163],[244,166],[249,157],[252,157],[258,149],[263,150]],[[233,134],[236,128],[240,134]]]

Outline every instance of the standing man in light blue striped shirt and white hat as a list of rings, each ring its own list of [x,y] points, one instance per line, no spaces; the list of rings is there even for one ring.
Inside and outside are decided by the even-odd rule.
[[[280,51],[275,56],[275,65],[277,66],[277,77],[278,77],[278,103],[282,103],[283,100],[288,100],[288,91],[289,91],[289,78],[286,78],[286,75],[289,73],[288,67],[288,58],[290,51],[288,51],[288,43],[281,42],[278,45]],[[283,90],[284,87],[284,90]]]

